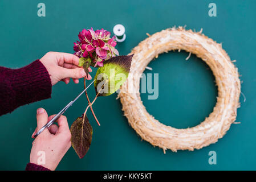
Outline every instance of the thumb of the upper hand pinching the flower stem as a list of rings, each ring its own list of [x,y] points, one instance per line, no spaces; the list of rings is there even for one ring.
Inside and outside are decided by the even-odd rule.
[[[63,78],[82,78],[86,76],[86,72],[83,68],[60,68],[60,73]]]

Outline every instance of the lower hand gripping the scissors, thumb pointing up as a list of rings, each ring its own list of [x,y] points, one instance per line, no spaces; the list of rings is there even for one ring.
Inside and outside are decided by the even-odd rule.
[[[37,127],[32,138],[54,115],[48,117],[46,110],[39,108],[36,111]],[[63,115],[57,120],[58,125],[51,125],[44,129],[32,142],[30,163],[34,163],[52,171],[56,169],[60,160],[71,147],[71,133],[67,118]]]

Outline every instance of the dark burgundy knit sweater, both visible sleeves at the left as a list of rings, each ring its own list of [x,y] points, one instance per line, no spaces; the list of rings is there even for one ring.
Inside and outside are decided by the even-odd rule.
[[[0,115],[50,97],[51,79],[39,60],[19,69],[0,67]],[[26,170],[49,169],[29,163]]]

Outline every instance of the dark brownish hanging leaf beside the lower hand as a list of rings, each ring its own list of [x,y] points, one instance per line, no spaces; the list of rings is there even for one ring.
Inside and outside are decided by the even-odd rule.
[[[71,143],[72,147],[82,159],[86,155],[92,143],[92,126],[90,125],[86,115],[77,118],[72,123],[71,128]]]

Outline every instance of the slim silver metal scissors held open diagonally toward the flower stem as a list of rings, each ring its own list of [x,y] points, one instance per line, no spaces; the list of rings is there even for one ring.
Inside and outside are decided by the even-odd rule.
[[[95,81],[95,80],[94,80],[94,81]],[[92,81],[91,84],[92,84],[94,81]],[[42,129],[38,130],[38,132],[36,132],[36,134],[34,135],[34,137],[36,138],[40,133],[42,133],[42,131],[43,131],[44,129],[46,129],[46,127],[50,127],[50,126],[52,125],[52,123],[54,123],[57,119],[59,119],[59,117],[60,117],[63,113],[65,113],[65,111],[66,111],[70,106],[72,106],[72,104],[74,104],[74,102],[75,102],[76,100],[78,100],[78,98],[79,98],[80,96],[82,96],[82,94],[83,94],[84,92],[86,92],[86,90],[89,88],[89,86],[91,86],[91,84],[88,85],[87,88],[83,90],[83,92],[81,92],[74,100],[72,100],[70,103],[68,103],[68,105],[66,105],[61,111],[59,111],[59,113],[56,114],[55,117],[53,117],[48,123],[46,123],[46,125],[44,125],[44,126],[42,127]]]

